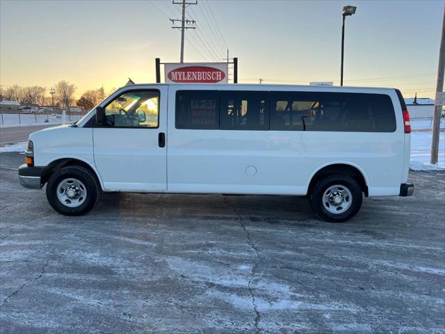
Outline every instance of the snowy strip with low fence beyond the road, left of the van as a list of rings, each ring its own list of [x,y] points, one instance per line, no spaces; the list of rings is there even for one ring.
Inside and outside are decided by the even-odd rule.
[[[66,115],[65,122],[72,123],[81,119],[81,115]],[[19,127],[26,125],[62,124],[60,114],[35,115],[23,113],[0,113],[0,127]]]

